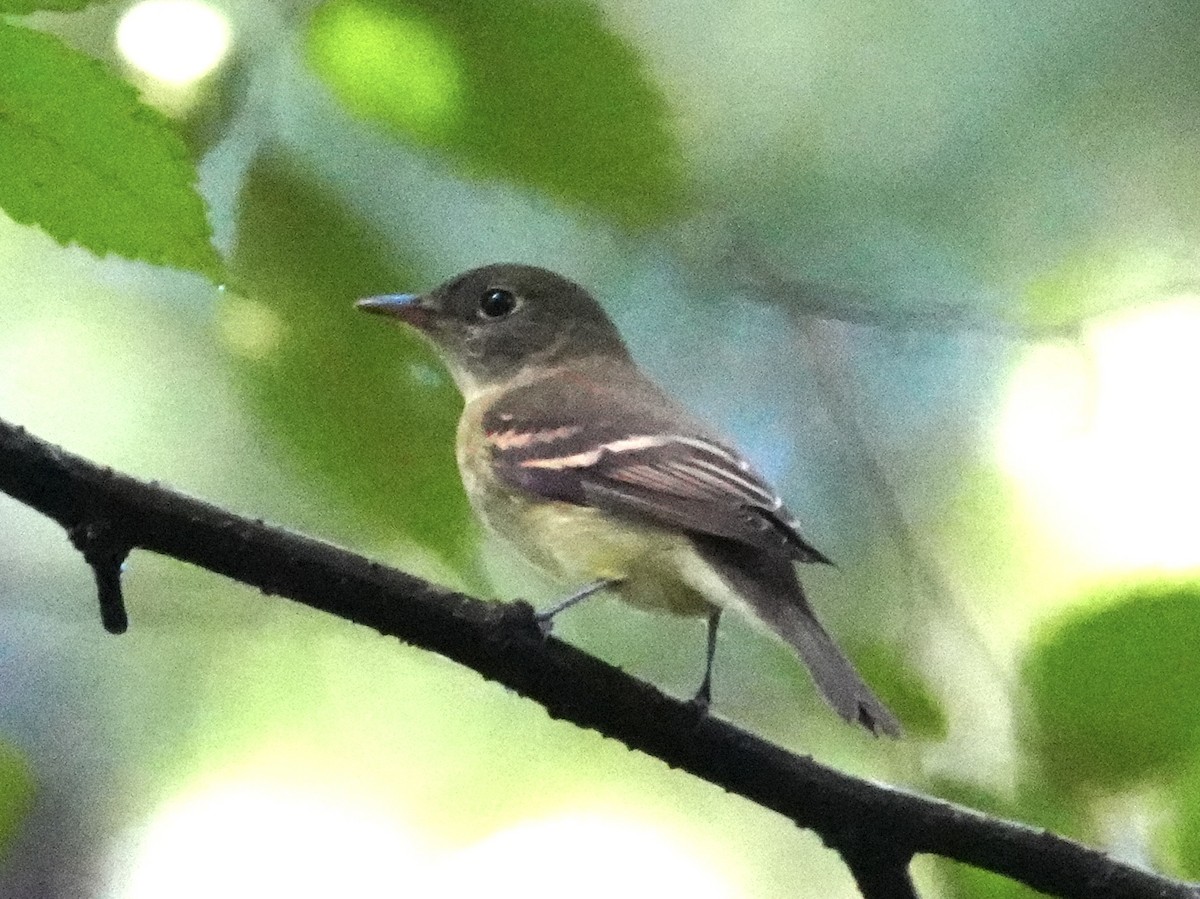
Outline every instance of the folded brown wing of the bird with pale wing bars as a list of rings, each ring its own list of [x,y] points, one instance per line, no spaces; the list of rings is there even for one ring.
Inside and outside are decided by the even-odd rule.
[[[511,487],[828,562],[740,454],[644,384],[547,378],[502,396],[482,426]]]

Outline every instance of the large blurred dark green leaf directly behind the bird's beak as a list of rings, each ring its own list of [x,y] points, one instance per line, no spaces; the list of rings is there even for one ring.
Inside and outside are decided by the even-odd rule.
[[[353,305],[428,280],[270,156],[247,173],[230,268],[222,331],[275,433],[368,526],[461,558],[475,537],[454,461],[462,402],[424,343]]]

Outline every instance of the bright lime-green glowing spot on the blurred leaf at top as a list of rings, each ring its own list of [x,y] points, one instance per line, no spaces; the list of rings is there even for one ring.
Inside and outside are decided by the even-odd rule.
[[[414,13],[359,0],[324,4],[308,29],[308,56],[350,109],[410,134],[440,134],[462,104],[456,48]]]

